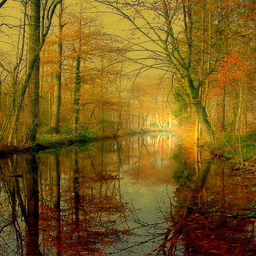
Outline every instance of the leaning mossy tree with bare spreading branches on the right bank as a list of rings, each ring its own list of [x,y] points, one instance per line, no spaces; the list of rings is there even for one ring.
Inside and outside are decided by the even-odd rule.
[[[214,132],[200,97],[206,78],[200,78],[200,71],[193,65],[193,3],[183,1],[117,1],[95,0],[105,4],[119,16],[132,23],[138,33],[150,41],[149,48],[141,41],[131,41],[139,50],[150,53],[151,64],[160,70],[170,70],[178,78],[178,85],[186,91],[190,104],[203,129],[208,142],[214,141]],[[152,7],[153,6],[153,7]],[[150,14],[149,14],[150,13]],[[182,28],[180,28],[182,26]],[[145,40],[144,40],[145,41]],[[156,49],[156,50],[155,50]],[[137,63],[145,58],[134,60]],[[144,68],[150,65],[142,63]],[[185,97],[185,96],[184,96]]]

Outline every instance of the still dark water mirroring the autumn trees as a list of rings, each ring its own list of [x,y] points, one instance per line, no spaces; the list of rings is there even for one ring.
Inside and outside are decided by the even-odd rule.
[[[255,255],[256,181],[174,134],[0,159],[0,255]]]

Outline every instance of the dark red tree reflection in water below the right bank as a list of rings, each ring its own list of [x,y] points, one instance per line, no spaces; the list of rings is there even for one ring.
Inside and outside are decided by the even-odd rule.
[[[225,184],[224,171],[228,169],[203,159],[201,150],[195,150],[192,169],[191,162],[181,158],[180,152],[174,154],[179,163],[174,171],[178,186],[171,198],[175,203],[171,203],[171,214],[165,215],[169,226],[154,255],[254,255],[255,219],[234,215],[248,210],[247,200],[234,200],[246,195],[247,186],[235,184],[241,190],[235,191],[228,182]],[[219,180],[214,179],[218,174]]]

